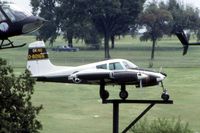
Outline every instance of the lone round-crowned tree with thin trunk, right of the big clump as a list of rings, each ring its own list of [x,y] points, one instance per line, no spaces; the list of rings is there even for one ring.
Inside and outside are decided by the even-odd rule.
[[[151,62],[150,67],[153,66],[155,45],[159,38],[162,38],[164,34],[171,32],[170,21],[172,21],[172,15],[169,11],[159,8],[156,4],[151,3],[146,10],[140,14],[139,23],[145,26],[147,31],[141,36],[141,41],[152,41]]]

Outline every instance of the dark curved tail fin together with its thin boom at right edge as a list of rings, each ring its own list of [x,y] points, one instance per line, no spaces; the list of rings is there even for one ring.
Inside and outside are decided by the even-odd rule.
[[[200,45],[200,42],[190,43],[188,41],[188,38],[187,38],[185,32],[183,31],[183,28],[181,28],[180,26],[175,26],[172,32],[178,37],[181,44],[183,45],[183,55],[187,54],[189,46]]]

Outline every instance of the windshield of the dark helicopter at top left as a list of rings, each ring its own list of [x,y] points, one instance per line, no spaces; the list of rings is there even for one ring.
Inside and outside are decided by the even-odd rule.
[[[15,4],[6,4],[2,6],[2,9],[6,15],[10,18],[12,22],[18,22],[24,20],[25,18],[31,16],[32,14],[28,11],[19,8]]]

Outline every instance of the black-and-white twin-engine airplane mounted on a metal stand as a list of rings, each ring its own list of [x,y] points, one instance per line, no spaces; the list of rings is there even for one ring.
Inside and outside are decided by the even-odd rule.
[[[42,41],[29,44],[27,69],[37,81],[100,85],[100,97],[103,100],[109,97],[105,85],[120,85],[119,96],[125,100],[128,97],[126,85],[147,87],[159,83],[163,88],[161,98],[169,99],[162,83],[166,77],[165,73],[140,69],[124,59],[111,59],[76,67],[55,66],[50,62]]]

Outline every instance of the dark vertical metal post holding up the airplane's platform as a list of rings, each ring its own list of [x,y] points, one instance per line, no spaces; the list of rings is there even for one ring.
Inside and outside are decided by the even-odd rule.
[[[113,133],[119,133],[119,103],[113,103]]]

